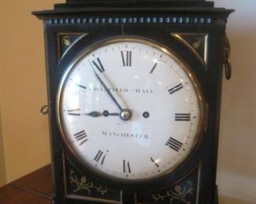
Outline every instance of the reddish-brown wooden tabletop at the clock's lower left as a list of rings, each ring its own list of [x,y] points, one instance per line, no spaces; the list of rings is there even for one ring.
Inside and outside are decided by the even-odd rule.
[[[47,165],[0,188],[0,203],[50,204],[52,194],[50,165]]]

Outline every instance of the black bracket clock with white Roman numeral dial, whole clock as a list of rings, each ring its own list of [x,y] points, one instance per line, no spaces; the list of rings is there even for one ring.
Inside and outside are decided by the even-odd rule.
[[[33,12],[45,34],[52,203],[217,203],[232,12],[204,0]]]

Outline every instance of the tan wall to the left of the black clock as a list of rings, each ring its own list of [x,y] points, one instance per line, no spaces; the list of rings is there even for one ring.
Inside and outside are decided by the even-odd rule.
[[[43,24],[50,0],[0,0],[0,186],[50,163]]]

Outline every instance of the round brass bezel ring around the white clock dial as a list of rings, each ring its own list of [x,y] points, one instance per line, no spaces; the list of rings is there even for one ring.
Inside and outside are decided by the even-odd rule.
[[[91,165],[84,161],[83,158],[80,157],[80,154],[76,151],[74,151],[72,149],[72,146],[69,144],[69,140],[67,140],[65,138],[65,133],[64,130],[62,128],[62,123],[61,123],[61,98],[62,98],[62,87],[65,84],[65,78],[67,78],[67,76],[69,75],[70,71],[72,70],[72,67],[74,67],[74,65],[81,60],[81,58],[83,56],[88,55],[89,53],[91,53],[92,51],[94,51],[95,49],[98,49],[102,46],[107,46],[109,44],[113,44],[113,43],[117,43],[117,42],[138,42],[138,43],[143,43],[143,44],[147,44],[148,46],[152,46],[155,49],[160,49],[162,52],[164,52],[165,54],[167,54],[168,56],[170,56],[173,60],[176,61],[177,64],[180,65],[180,67],[185,71],[185,73],[187,74],[187,76],[190,78],[191,80],[191,84],[193,85],[195,92],[197,94],[198,97],[198,104],[199,104],[199,109],[200,109],[200,120],[198,122],[198,133],[197,136],[195,137],[195,141],[194,144],[192,145],[188,155],[182,159],[180,162],[178,162],[176,164],[176,166],[173,166],[173,168],[169,169],[168,171],[166,171],[163,174],[151,177],[150,179],[141,179],[141,180],[127,180],[127,179],[121,179],[118,177],[111,177],[106,173],[102,173],[101,171],[94,169],[91,167]],[[191,157],[191,155],[193,155],[193,152],[195,151],[196,146],[198,146],[199,144],[199,140],[201,140],[202,138],[202,133],[203,133],[203,129],[204,126],[206,124],[206,103],[202,94],[202,89],[199,86],[198,80],[195,77],[195,74],[193,73],[193,71],[191,70],[191,68],[184,62],[184,60],[182,60],[180,58],[180,56],[178,56],[172,49],[169,49],[166,46],[161,45],[161,43],[159,42],[154,42],[151,39],[147,39],[147,38],[139,38],[139,37],[114,37],[114,38],[108,38],[102,41],[99,41],[91,46],[88,46],[86,49],[83,49],[83,51],[76,57],[75,60],[72,61],[72,63],[69,64],[69,66],[67,67],[67,69],[65,70],[64,75],[61,77],[61,82],[58,86],[58,93],[57,93],[57,121],[58,121],[58,128],[60,130],[61,133],[61,137],[65,142],[65,146],[69,149],[69,151],[72,153],[72,155],[78,160],[78,162],[80,162],[80,164],[82,164],[82,166],[86,167],[87,169],[90,169],[91,171],[94,171],[95,174],[100,175],[103,178],[106,178],[107,180],[112,180],[113,182],[117,182],[117,183],[121,183],[121,184],[145,184],[149,181],[152,180],[158,180],[162,177],[165,177],[166,175],[169,175],[169,173],[172,173],[174,170],[176,170],[179,166],[181,166],[182,164],[184,164],[185,162],[187,162],[188,158]],[[96,170],[96,172],[95,172]]]

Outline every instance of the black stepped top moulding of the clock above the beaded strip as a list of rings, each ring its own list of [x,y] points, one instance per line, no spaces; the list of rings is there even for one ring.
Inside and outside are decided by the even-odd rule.
[[[55,4],[52,10],[32,12],[39,19],[62,17],[69,14],[92,13],[200,13],[201,15],[217,14],[226,19],[232,9],[215,8],[214,2],[205,0],[66,0]]]

